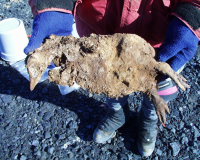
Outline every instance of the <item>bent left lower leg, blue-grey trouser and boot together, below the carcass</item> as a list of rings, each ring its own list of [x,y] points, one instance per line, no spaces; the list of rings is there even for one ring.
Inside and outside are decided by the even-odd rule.
[[[108,112],[102,118],[93,134],[93,140],[97,143],[104,143],[115,136],[119,129],[130,117],[128,107],[128,96],[106,98]]]

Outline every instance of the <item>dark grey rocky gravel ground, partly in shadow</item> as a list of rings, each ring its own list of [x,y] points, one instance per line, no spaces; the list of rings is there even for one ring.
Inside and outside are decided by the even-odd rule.
[[[31,34],[28,0],[0,0],[0,20],[23,20]],[[191,86],[169,103],[171,114],[147,159],[200,159],[200,49],[182,72]],[[0,59],[0,159],[143,159],[136,147],[136,116],[141,93],[129,98],[131,119],[106,144],[92,134],[106,110],[104,95],[79,89],[62,96],[48,80],[29,91],[29,81]]]

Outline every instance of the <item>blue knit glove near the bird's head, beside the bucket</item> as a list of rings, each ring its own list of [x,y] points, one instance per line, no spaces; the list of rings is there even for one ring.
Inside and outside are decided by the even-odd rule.
[[[28,45],[24,49],[25,54],[40,47],[45,38],[51,34],[68,36],[72,32],[73,15],[48,11],[38,14],[33,21],[33,33]]]

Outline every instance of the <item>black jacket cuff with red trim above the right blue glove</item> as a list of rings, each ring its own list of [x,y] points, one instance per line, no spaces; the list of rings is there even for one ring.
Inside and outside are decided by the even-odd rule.
[[[200,0],[181,0],[172,15],[182,20],[200,39]]]

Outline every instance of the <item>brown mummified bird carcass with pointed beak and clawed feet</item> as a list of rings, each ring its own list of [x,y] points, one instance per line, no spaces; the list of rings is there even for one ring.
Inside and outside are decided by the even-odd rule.
[[[76,81],[91,93],[116,98],[141,91],[152,100],[159,119],[165,122],[169,108],[157,94],[158,72],[172,77],[183,90],[189,86],[167,63],[155,61],[154,56],[153,47],[134,34],[91,34],[83,38],[52,35],[27,57],[30,89],[34,89],[53,61],[61,68],[49,72],[50,81],[63,86]]]

